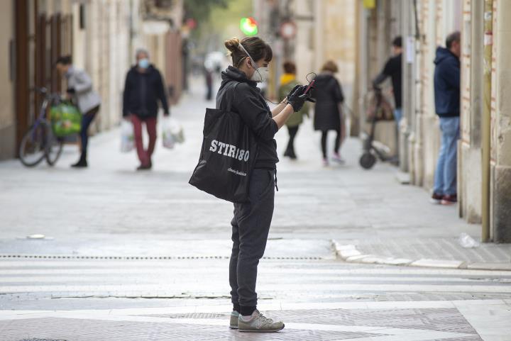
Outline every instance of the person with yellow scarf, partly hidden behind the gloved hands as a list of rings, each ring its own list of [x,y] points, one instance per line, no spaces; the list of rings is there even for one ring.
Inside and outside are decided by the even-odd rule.
[[[282,99],[287,94],[299,84],[296,80],[296,65],[294,62],[285,62],[284,65],[284,74],[280,77],[280,88],[279,88],[279,98]],[[298,128],[300,124],[303,122],[303,116],[308,115],[307,104],[304,105],[302,110],[297,113],[293,113],[289,120],[287,120],[287,130],[290,134],[289,142],[287,142],[287,148],[284,152],[284,156],[290,157],[291,160],[296,160],[297,156],[295,153],[295,137],[298,133]]]

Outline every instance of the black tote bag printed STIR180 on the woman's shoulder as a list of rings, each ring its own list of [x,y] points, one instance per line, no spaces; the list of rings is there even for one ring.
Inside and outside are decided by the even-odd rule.
[[[219,199],[246,202],[257,151],[255,136],[238,113],[207,108],[199,163],[189,184]]]

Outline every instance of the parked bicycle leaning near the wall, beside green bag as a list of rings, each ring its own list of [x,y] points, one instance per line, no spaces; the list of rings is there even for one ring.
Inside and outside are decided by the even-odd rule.
[[[21,163],[27,167],[34,167],[43,159],[53,166],[62,153],[64,139],[55,135],[53,125],[46,118],[48,104],[57,105],[62,102],[60,94],[50,94],[45,88],[34,88],[33,91],[44,96],[43,103],[39,109],[39,116],[35,119],[31,128],[23,135],[19,147]]]

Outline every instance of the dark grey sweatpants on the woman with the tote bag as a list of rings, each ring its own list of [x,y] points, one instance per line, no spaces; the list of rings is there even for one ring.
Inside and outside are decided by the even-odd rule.
[[[257,267],[264,255],[273,217],[275,171],[254,169],[248,203],[234,204],[233,248],[229,264],[232,303],[256,306]]]

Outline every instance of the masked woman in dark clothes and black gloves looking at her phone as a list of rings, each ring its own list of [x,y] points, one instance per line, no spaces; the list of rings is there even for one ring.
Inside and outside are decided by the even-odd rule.
[[[255,281],[259,259],[263,257],[275,198],[277,143],[274,135],[291,114],[300,111],[304,99],[298,96],[304,87],[297,86],[287,100],[272,111],[256,86],[268,77],[268,64],[273,52],[257,37],[227,40],[233,66],[222,72],[222,83],[216,95],[216,108],[231,108],[250,128],[258,140],[258,156],[251,173],[249,201],[234,204],[232,254],[229,264],[231,285],[230,327],[243,332],[276,332],[284,323],[265,318],[257,310]]]

